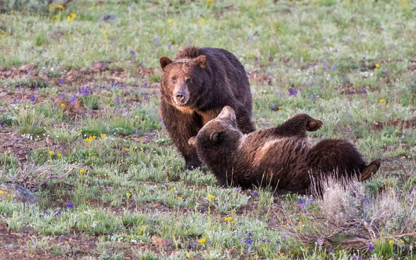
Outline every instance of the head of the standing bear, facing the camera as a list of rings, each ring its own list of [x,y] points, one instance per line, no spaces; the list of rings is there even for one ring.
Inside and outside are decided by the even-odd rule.
[[[166,56],[159,58],[162,67],[162,95],[175,107],[193,106],[202,94],[202,70],[206,57],[171,60]]]

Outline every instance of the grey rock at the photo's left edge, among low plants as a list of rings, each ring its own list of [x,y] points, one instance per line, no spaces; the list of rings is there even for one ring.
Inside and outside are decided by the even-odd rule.
[[[0,199],[14,198],[20,202],[35,204],[39,198],[32,191],[15,183],[0,184]]]

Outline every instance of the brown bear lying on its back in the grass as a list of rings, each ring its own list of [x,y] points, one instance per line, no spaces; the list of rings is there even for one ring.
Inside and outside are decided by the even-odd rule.
[[[277,193],[302,194],[311,191],[311,177],[319,180],[338,172],[338,176],[357,175],[366,180],[376,173],[380,160],[367,165],[347,141],[326,139],[310,144],[306,131],[321,125],[322,121],[307,114],[297,114],[275,128],[244,135],[236,127],[234,110],[224,107],[189,144],[197,147],[200,159],[220,185],[270,185],[277,187]]]

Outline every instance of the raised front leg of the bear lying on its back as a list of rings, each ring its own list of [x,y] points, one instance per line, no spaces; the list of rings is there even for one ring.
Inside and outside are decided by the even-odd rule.
[[[313,132],[322,126],[322,121],[313,119],[307,114],[296,114],[288,121],[272,128],[279,137],[306,137],[306,131]]]

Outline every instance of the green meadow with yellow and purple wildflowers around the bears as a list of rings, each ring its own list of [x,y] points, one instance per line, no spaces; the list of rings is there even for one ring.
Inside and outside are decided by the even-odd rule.
[[[1,260],[416,259],[415,1],[17,3],[0,1],[0,182],[40,202],[0,190]],[[159,56],[189,44],[241,60],[257,128],[307,113],[311,139],[381,169],[323,198],[182,170]]]

